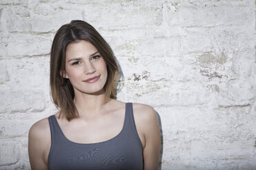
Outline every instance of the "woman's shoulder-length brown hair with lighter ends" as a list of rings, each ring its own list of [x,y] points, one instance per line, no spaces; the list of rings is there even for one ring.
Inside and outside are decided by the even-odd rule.
[[[107,82],[104,86],[105,102],[116,98],[116,85],[118,82],[118,66],[109,45],[92,25],[85,21],[71,21],[58,29],[52,42],[50,53],[50,87],[52,100],[61,114],[68,121],[78,117],[74,104],[74,88],[70,80],[65,79],[65,59],[67,45],[79,40],[90,42],[103,57],[107,65]]]

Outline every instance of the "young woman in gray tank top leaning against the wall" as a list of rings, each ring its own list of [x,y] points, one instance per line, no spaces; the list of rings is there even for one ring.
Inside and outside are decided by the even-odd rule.
[[[32,125],[32,169],[158,169],[155,110],[115,99],[118,66],[102,36],[84,21],[56,33],[50,87],[59,112]]]

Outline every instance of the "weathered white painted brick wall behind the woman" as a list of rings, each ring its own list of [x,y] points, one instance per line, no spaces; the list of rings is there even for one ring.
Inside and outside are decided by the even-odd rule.
[[[162,169],[256,169],[255,1],[0,0],[0,169],[30,169],[28,130],[54,114],[49,52],[91,23],[123,72],[118,99],[162,120]]]

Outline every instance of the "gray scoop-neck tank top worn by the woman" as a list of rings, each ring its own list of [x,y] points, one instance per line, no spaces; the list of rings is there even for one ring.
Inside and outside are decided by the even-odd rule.
[[[51,147],[49,169],[143,169],[143,147],[134,123],[131,103],[125,104],[125,123],[121,132],[100,143],[74,143],[67,139],[55,115],[48,117]]]

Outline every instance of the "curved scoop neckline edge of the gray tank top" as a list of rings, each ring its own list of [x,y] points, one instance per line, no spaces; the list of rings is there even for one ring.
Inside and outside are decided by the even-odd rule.
[[[98,142],[98,143],[76,143],[74,141],[70,141],[70,139],[68,139],[65,134],[63,133],[63,131],[61,130],[61,126],[58,124],[58,121],[56,119],[56,116],[55,114],[52,115],[54,117],[54,121],[56,121],[56,125],[58,127],[58,130],[61,132],[61,136],[63,136],[63,138],[65,138],[65,140],[69,143],[73,143],[73,144],[76,144],[76,145],[96,145],[96,144],[102,144],[102,143],[107,143],[109,141],[112,141],[114,140],[115,138],[118,138],[118,136],[120,136],[120,134],[122,133],[122,131],[124,130],[125,128],[125,124],[126,124],[126,119],[127,119],[127,103],[125,103],[125,119],[124,119],[124,123],[122,124],[122,129],[120,130],[120,132],[114,136],[113,138],[109,138],[107,139],[106,141],[102,141],[102,142]]]

